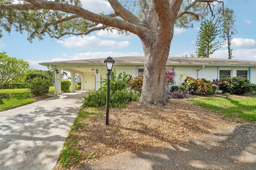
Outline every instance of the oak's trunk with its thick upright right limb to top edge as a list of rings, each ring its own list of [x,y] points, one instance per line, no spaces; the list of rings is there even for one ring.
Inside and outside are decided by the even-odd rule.
[[[166,61],[173,37],[174,21],[181,2],[182,0],[177,0],[176,3],[169,4],[168,1],[153,1],[159,19],[159,31],[148,32],[147,36],[141,38],[145,66],[140,103],[164,106],[168,101],[165,91]]]

